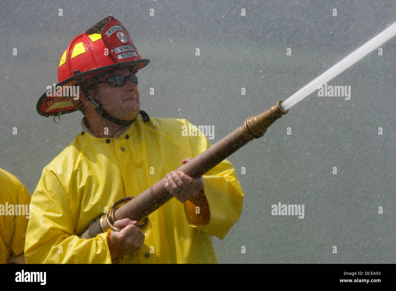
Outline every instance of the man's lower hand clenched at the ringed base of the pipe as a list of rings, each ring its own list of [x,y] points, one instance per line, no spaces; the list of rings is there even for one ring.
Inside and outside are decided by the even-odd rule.
[[[136,226],[136,223],[137,221],[132,221],[129,218],[120,219],[114,223],[114,226],[121,230],[112,230],[110,237],[107,238],[107,245],[109,245],[112,259],[133,255],[141,248],[145,235]]]

